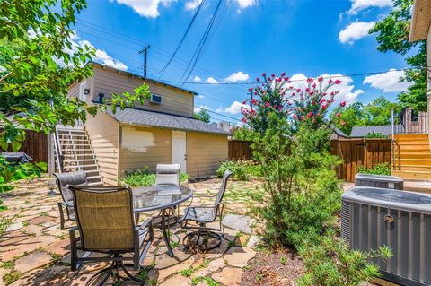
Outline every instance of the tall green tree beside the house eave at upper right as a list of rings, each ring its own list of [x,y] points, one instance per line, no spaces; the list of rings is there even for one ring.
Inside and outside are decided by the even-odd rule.
[[[407,91],[400,93],[402,107],[418,111],[427,109],[427,58],[425,40],[409,42],[410,14],[413,0],[394,0],[391,13],[381,22],[377,22],[370,33],[377,34],[377,49],[383,53],[393,51],[400,55],[407,53],[406,63],[411,69],[405,72],[402,81],[410,82]]]

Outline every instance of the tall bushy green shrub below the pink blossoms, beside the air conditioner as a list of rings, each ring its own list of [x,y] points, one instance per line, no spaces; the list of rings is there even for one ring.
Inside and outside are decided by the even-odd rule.
[[[286,136],[287,122],[270,120],[266,134],[253,144],[265,178],[264,193],[251,194],[260,203],[253,211],[265,222],[263,235],[270,244],[299,247],[337,221],[341,188],[334,169],[340,160],[329,152],[330,128],[303,123],[293,140]]]

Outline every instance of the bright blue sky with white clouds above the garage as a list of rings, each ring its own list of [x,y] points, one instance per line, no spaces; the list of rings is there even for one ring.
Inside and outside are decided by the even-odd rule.
[[[204,2],[161,81],[180,81],[217,2]],[[220,11],[228,2],[222,0]],[[199,3],[89,0],[88,8],[78,16],[75,40],[97,48],[97,61],[136,74],[143,73],[143,56],[138,51],[150,44],[149,77],[159,79],[158,72],[180,42]],[[254,82],[262,72],[286,72],[301,79],[404,68],[403,56],[379,52],[374,36],[367,35],[390,10],[391,0],[232,0],[187,82]],[[381,95],[395,100],[407,87],[398,82],[401,75],[394,71],[342,78],[339,101],[367,103]],[[240,102],[246,98],[248,85],[186,83],[183,87],[201,94],[196,106],[241,118]]]

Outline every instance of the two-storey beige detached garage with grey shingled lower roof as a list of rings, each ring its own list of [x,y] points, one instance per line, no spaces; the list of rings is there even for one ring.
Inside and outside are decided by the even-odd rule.
[[[158,163],[180,163],[191,178],[205,178],[216,173],[228,156],[228,132],[193,118],[197,93],[143,78],[136,74],[91,63],[92,78],[75,82],[69,95],[88,103],[110,94],[133,92],[148,84],[152,100],[136,108],[113,114],[88,116],[84,130],[101,171],[101,180],[116,185],[117,179]]]

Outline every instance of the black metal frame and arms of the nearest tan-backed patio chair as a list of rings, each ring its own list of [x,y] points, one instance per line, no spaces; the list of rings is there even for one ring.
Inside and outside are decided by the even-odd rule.
[[[110,189],[111,191],[116,191],[119,189],[124,189],[124,186],[71,186],[71,189],[74,193],[74,207],[76,210],[75,205],[75,189],[85,189],[89,191],[95,191],[95,192],[101,192],[103,188]],[[131,213],[131,221],[134,222],[135,213],[133,212],[133,195],[132,190],[128,188],[130,192],[130,213]],[[110,192],[110,191],[108,191]],[[107,192],[107,193],[108,193]],[[79,225],[79,215],[78,212],[75,211],[76,216],[76,222]],[[146,230],[144,233],[141,232],[141,230]],[[76,237],[76,232],[79,232],[80,237]],[[125,249],[125,250],[112,250],[112,251],[102,251],[100,249],[86,249],[82,247],[82,233],[81,230],[78,227],[73,227],[69,230],[69,236],[70,236],[70,254],[71,254],[71,270],[76,271],[84,263],[94,263],[94,262],[110,262],[110,265],[108,267],[105,267],[98,271],[97,273],[94,273],[92,277],[89,279],[87,284],[91,283],[97,277],[99,277],[101,274],[105,273],[105,276],[101,279],[100,282],[97,283],[97,285],[103,285],[110,276],[113,278],[118,279],[119,281],[127,281],[132,280],[134,282],[139,282],[141,284],[144,284],[145,281],[140,280],[136,276],[134,276],[132,273],[130,273],[127,269],[128,266],[133,266],[134,271],[138,271],[140,269],[140,264],[145,259],[145,256],[151,247],[153,240],[154,240],[154,230],[153,230],[153,222],[149,218],[145,220],[140,226],[134,226],[133,229],[133,236],[134,236],[134,247],[133,249]],[[143,247],[145,244],[144,249],[141,253],[139,253],[139,250],[141,247]],[[84,251],[83,256],[78,256],[78,250]],[[92,257],[91,254],[93,252],[106,254],[107,256],[104,257]],[[132,253],[133,256],[123,256],[124,254]],[[132,264],[125,264],[124,262],[131,261]],[[126,273],[127,277],[123,277],[119,274],[119,270],[123,270],[124,273]]]

